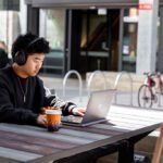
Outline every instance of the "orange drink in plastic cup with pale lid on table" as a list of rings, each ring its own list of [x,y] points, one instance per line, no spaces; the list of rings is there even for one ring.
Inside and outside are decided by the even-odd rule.
[[[61,127],[61,111],[46,110],[48,131],[58,131]]]

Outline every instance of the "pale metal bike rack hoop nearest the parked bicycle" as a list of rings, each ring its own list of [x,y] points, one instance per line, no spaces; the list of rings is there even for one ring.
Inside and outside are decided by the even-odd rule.
[[[133,78],[131,78],[129,73],[121,72],[121,73],[117,74],[117,77],[116,77],[115,84],[114,84],[114,89],[117,89],[117,84],[118,84],[120,79],[122,78],[122,76],[124,74],[126,74],[128,76],[129,80],[130,80],[130,90],[131,90],[130,91],[130,105],[133,105]],[[115,103],[116,103],[116,95],[115,95]]]

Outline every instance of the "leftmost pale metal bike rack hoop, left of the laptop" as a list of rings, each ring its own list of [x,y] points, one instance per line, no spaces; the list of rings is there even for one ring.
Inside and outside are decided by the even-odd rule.
[[[67,82],[67,78],[70,77],[70,75],[75,74],[79,80],[79,101],[82,101],[82,89],[83,89],[83,80],[82,80],[82,76],[79,75],[79,73],[77,71],[68,71],[64,78],[63,78],[63,97],[65,98],[65,84]]]

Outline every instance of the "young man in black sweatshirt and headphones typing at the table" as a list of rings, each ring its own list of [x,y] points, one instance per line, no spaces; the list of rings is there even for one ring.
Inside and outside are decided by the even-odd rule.
[[[32,34],[14,41],[12,66],[0,70],[0,122],[46,126],[41,109],[50,105],[62,109],[63,115],[84,115],[84,109],[51,95],[37,76],[49,50],[47,40]]]

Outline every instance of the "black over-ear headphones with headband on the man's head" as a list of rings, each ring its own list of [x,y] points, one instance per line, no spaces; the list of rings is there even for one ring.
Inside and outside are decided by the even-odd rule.
[[[26,54],[26,50],[34,43],[36,43],[38,40],[40,40],[42,38],[36,38],[33,41],[30,41],[27,47],[25,48],[25,50],[21,50],[17,51],[13,58],[13,62],[17,63],[18,65],[24,65],[26,63],[27,60],[27,54]]]

